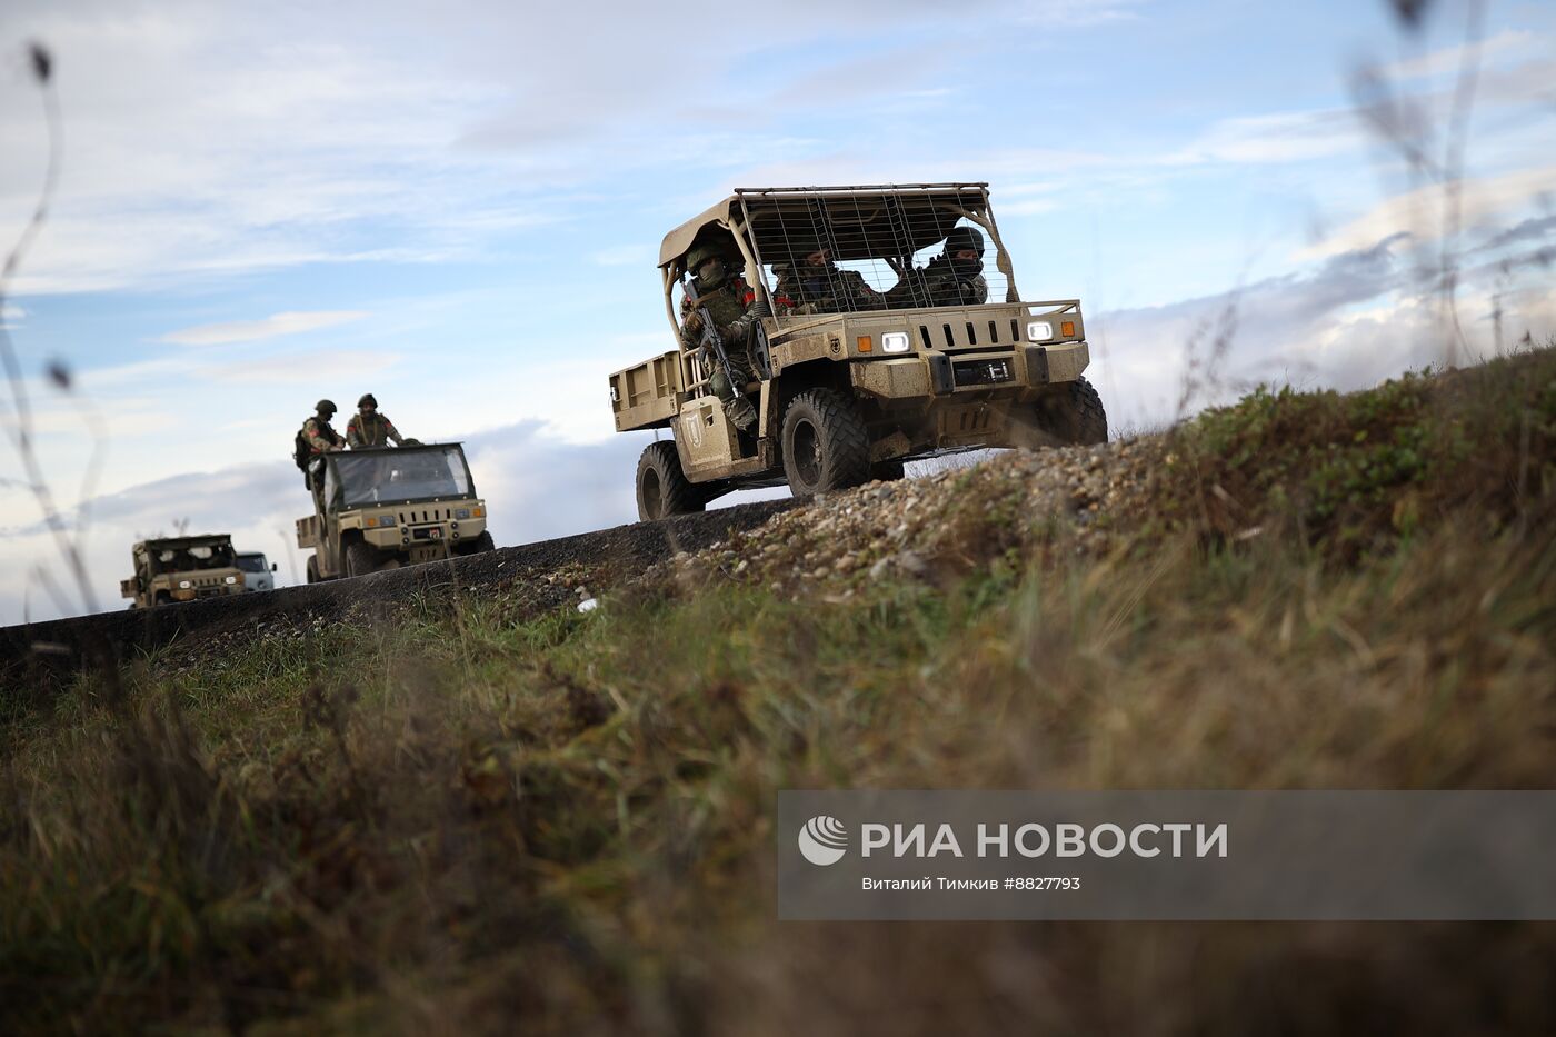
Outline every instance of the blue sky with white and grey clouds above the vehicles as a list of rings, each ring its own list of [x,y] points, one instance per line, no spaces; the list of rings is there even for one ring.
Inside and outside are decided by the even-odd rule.
[[[1123,430],[1556,330],[1550,3],[8,0],[5,248],[48,156],[28,40],[62,174],[0,321],[98,607],[180,523],[293,582],[321,395],[465,439],[498,543],[630,520],[605,375],[669,347],[658,240],[736,185],[990,181]],[[9,442],[0,529],[0,623],[86,607]]]

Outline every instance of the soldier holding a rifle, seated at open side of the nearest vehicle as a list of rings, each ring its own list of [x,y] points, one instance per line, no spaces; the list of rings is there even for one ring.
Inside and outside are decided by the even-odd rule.
[[[700,350],[708,374],[708,388],[724,402],[724,413],[736,428],[748,431],[756,425],[756,408],[745,399],[745,385],[755,380],[756,364],[750,358],[752,327],[767,310],[745,279],[730,269],[728,249],[714,241],[694,244],[686,254],[691,286],[682,299],[682,346]],[[702,344],[702,313],[713,318],[714,330],[724,341],[724,352],[739,385],[730,381],[717,357]]]

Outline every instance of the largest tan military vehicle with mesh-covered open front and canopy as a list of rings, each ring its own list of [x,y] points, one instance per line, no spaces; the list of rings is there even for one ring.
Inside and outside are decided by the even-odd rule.
[[[969,258],[937,255],[951,238]],[[700,302],[688,257],[710,244],[744,271],[759,318],[727,344],[756,375],[741,386],[748,431],[713,392],[730,369],[685,344]],[[906,461],[954,450],[1108,438],[1081,377],[1080,301],[1022,301],[988,184],[736,188],[664,235],[658,265],[677,347],[610,375],[616,431],[671,431],[638,461],[640,518],[745,487],[787,481],[798,497],[899,478]]]

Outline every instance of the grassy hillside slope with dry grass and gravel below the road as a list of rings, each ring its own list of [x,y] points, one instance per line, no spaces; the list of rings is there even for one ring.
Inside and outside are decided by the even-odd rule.
[[[11,701],[19,1025],[1556,1031],[1556,925],[780,925],[778,788],[1556,788],[1556,352]],[[566,582],[566,581],[563,581]]]

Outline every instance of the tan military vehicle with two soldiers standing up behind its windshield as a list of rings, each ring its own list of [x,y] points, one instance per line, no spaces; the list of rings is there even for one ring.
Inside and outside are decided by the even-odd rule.
[[[310,475],[314,514],[297,520],[310,584],[493,547],[457,442],[324,453]]]

